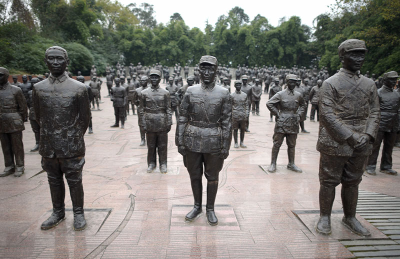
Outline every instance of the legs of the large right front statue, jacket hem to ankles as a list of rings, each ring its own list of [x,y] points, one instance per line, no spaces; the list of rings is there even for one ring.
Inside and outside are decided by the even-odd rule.
[[[335,187],[341,183],[341,201],[345,217],[355,217],[358,185],[366,166],[365,156],[339,157],[320,153],[319,210],[320,216],[330,216]]]

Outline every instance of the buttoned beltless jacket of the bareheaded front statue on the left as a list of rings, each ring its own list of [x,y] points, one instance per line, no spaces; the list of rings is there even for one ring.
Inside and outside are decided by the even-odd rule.
[[[33,108],[40,125],[39,154],[69,158],[85,153],[83,135],[90,120],[86,87],[66,73],[34,85]]]

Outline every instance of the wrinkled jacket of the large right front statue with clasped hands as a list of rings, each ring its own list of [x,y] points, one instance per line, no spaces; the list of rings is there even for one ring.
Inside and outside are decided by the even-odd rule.
[[[350,94],[348,91],[358,87]],[[319,95],[319,136],[316,149],[330,156],[368,156],[379,125],[379,100],[375,84],[363,75],[341,68],[326,79]],[[356,132],[368,134],[370,143],[354,150],[347,139]]]

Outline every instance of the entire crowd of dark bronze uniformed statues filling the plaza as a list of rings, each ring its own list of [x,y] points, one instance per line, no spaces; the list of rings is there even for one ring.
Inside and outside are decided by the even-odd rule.
[[[400,94],[393,91],[397,73],[383,75],[382,87],[361,75],[359,70],[365,59],[365,43],[358,39],[343,41],[338,47],[342,68],[325,80],[317,77],[303,80],[295,74],[284,77],[284,85],[278,77],[268,82],[269,100],[266,103],[275,128],[269,172],[276,171],[279,148],[286,139],[287,169],[301,173],[294,164],[297,134],[304,129],[308,101],[311,102],[311,121],[319,120],[319,134],[316,148],[319,158],[319,209],[320,217],[316,231],[323,235],[331,233],[330,215],[335,197],[335,187],[341,183],[343,204],[342,224],[359,236],[369,232],[355,217],[358,185],[366,170],[375,174],[376,159],[383,141],[380,171],[395,175],[392,170],[391,152],[399,131]],[[65,217],[65,187],[67,181],[74,216],[73,229],[86,228],[83,212],[82,169],[85,163],[83,135],[91,131],[90,102],[99,109],[101,82],[96,70],[91,69],[91,82],[84,85],[83,76],[71,79],[66,71],[69,63],[65,49],[53,46],[45,51],[44,62],[50,74],[39,81],[32,78],[30,83],[22,77],[23,83],[15,86],[8,82],[8,70],[0,67],[0,140],[4,155],[4,172],[0,176],[14,173],[20,176],[24,171],[22,131],[23,122],[29,117],[36,145],[41,155],[41,166],[47,173],[53,212],[41,224],[46,230],[58,225]],[[167,173],[167,134],[171,129],[172,112],[176,116],[175,145],[183,157],[192,189],[194,206],[184,219],[192,222],[202,214],[202,176],[206,184],[206,220],[216,226],[218,219],[214,204],[218,190],[219,172],[229,155],[233,135],[234,148],[246,148],[244,134],[248,132],[248,118],[259,115],[259,101],[262,94],[262,78],[240,76],[234,81],[235,91],[230,93],[228,78],[221,76],[223,84],[216,83],[221,75],[218,61],[213,56],[202,56],[198,63],[199,82],[195,76],[188,76],[184,67],[186,85],[167,77],[166,89],[160,88],[162,66],[143,72],[138,69],[140,80],[120,72],[114,78],[115,70],[107,66],[107,90],[114,107],[115,123],[111,127],[124,127],[129,103],[138,107],[140,146],[147,143],[147,172],[156,168],[158,154],[160,173]],[[222,66],[224,69],[224,66]],[[118,68],[117,71],[122,71]],[[132,67],[133,70],[133,67]],[[163,70],[163,71],[161,71]],[[175,67],[179,71],[179,66]],[[240,71],[239,71],[240,72]],[[131,78],[133,79],[131,81]],[[272,80],[273,79],[273,80]],[[314,80],[310,87],[308,80]],[[272,82],[273,81],[273,82]],[[221,83],[222,83],[221,82]],[[112,86],[115,84],[114,86]],[[149,86],[147,86],[149,84]],[[194,85],[193,85],[194,84]],[[228,87],[227,87],[228,86]],[[265,87],[266,83],[265,83]],[[393,93],[394,92],[394,93]],[[29,116],[27,116],[29,107]],[[237,133],[240,130],[239,142]]]

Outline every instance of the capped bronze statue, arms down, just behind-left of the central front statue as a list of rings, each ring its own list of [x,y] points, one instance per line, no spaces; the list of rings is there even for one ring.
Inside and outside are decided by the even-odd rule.
[[[159,87],[161,72],[151,69],[149,72],[151,87],[141,91],[140,120],[147,139],[147,173],[151,173],[156,166],[158,152],[159,171],[167,173],[167,144],[168,132],[171,130],[172,113],[169,92]]]

